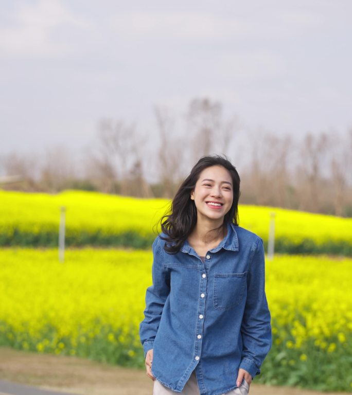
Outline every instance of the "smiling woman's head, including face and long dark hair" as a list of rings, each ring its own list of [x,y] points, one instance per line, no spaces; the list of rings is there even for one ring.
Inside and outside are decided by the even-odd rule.
[[[165,250],[169,253],[178,252],[182,243],[196,234],[193,230],[202,228],[202,221],[205,221],[204,225],[210,231],[210,239],[217,232],[226,232],[226,223],[238,225],[239,185],[239,175],[228,160],[221,156],[200,159],[175,194],[171,214],[161,220],[161,229],[167,235],[165,240],[168,242]],[[209,210],[219,207],[218,204],[218,217],[206,220],[212,212]]]

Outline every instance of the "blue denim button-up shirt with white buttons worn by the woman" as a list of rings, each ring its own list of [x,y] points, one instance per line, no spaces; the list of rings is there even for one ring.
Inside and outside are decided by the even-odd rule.
[[[237,388],[238,369],[252,377],[271,347],[262,240],[233,224],[205,261],[187,241],[177,254],[153,243],[153,285],[139,334],[153,349],[152,372],[181,392],[196,370],[201,395]]]

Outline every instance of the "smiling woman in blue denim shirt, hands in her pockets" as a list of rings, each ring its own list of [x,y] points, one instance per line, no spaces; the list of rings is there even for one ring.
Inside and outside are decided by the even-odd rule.
[[[240,178],[205,156],[153,243],[140,324],[154,395],[247,394],[271,347],[262,240],[238,226]]]

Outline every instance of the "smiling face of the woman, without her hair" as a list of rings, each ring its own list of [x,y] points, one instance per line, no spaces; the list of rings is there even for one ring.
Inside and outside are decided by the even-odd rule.
[[[220,165],[204,169],[190,198],[195,201],[198,220],[223,222],[234,199],[231,174]]]

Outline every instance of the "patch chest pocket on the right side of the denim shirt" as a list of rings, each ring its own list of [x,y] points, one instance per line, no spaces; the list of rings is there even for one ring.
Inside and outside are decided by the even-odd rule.
[[[236,307],[247,286],[247,272],[217,273],[214,275],[214,307],[224,311]]]

